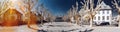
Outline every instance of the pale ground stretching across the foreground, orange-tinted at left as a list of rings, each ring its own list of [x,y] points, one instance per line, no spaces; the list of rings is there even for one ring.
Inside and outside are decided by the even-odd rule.
[[[32,27],[36,28],[36,25],[31,25]],[[78,31],[85,31],[86,29],[93,29],[91,32],[119,32],[120,28],[117,27],[89,27],[85,26],[78,26],[76,24],[68,23],[68,22],[53,22],[53,23],[45,23],[41,28],[47,32],[78,32]],[[38,30],[33,30],[27,27],[27,25],[22,26],[14,26],[14,27],[0,27],[0,32],[40,32]]]

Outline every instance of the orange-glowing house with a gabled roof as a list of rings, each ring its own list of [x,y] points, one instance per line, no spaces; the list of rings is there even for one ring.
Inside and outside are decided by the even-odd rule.
[[[15,9],[8,9],[2,16],[2,26],[17,26],[21,21],[21,15]]]

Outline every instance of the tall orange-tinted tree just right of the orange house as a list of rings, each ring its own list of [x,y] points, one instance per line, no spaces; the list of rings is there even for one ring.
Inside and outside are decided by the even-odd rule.
[[[21,0],[22,2],[18,2],[18,6],[23,12],[23,21],[27,22],[29,28],[34,30],[39,30],[32,28],[30,25],[31,23],[36,22],[37,18],[35,13],[32,12],[32,9],[38,3],[38,0]]]

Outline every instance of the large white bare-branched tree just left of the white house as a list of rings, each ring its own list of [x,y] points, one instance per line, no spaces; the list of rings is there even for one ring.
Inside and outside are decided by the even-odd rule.
[[[81,3],[83,4],[83,6],[80,11],[85,13],[83,16],[84,18],[87,18],[87,20],[90,19],[90,21],[91,21],[90,23],[92,26],[93,18],[95,16],[96,12],[100,10],[101,0],[98,0],[95,8],[94,8],[94,6],[95,6],[94,0],[84,0]]]

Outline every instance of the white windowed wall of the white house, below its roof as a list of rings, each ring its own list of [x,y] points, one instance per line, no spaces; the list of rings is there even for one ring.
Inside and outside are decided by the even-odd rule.
[[[109,17],[109,19],[108,19],[108,17]],[[101,11],[97,12],[93,21],[109,22],[111,20],[112,20],[112,11],[111,10],[101,10]]]

